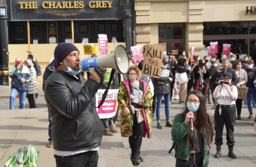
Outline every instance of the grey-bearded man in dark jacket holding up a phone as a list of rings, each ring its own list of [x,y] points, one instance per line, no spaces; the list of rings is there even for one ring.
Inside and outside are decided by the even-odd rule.
[[[212,80],[216,80],[216,79],[220,80],[221,77],[223,77],[225,72],[229,72],[232,75],[232,84],[237,85],[238,78],[237,78],[237,75],[235,74],[235,70],[231,66],[232,66],[232,64],[229,63],[229,59],[228,58],[223,58],[222,59],[222,66],[220,66],[219,69],[212,74],[211,79]]]

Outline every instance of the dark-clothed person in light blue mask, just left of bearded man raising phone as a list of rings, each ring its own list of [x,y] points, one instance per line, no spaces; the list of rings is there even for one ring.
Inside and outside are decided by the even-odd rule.
[[[211,76],[217,72],[218,70],[218,61],[214,60],[211,64],[211,67],[209,68],[208,72],[208,77],[209,77],[209,87],[211,89],[211,94],[213,95],[213,91],[214,89],[218,86],[218,80],[217,79],[213,79]],[[216,103],[216,100],[213,98],[213,103]],[[214,109],[214,107],[213,107]]]

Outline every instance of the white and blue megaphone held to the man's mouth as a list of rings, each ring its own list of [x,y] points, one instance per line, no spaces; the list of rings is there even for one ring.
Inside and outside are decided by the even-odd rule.
[[[124,46],[118,45],[115,51],[103,57],[83,59],[79,62],[81,71],[92,72],[94,67],[98,69],[113,68],[126,74],[129,70],[129,58]]]

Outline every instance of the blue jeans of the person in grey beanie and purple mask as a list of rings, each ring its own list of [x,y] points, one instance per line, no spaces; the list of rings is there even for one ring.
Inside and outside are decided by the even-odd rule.
[[[170,94],[157,94],[157,108],[156,108],[156,115],[157,120],[160,121],[160,109],[162,103],[162,97],[165,99],[165,117],[166,120],[170,119]]]

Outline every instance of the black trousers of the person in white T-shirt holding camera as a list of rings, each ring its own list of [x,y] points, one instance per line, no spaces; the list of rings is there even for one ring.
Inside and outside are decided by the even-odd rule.
[[[219,107],[218,104],[215,108],[214,112],[214,121],[215,121],[215,143],[217,146],[221,146],[223,144],[222,141],[222,133],[224,124],[226,126],[226,139],[227,145],[229,147],[233,147],[235,145],[234,139],[234,125],[235,125],[235,105],[230,107],[221,107],[221,115],[219,115]]]

